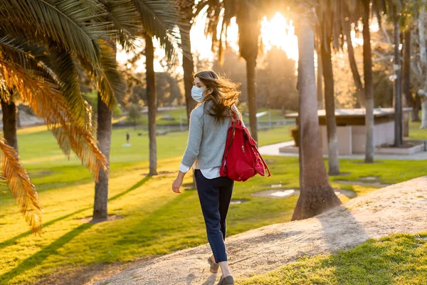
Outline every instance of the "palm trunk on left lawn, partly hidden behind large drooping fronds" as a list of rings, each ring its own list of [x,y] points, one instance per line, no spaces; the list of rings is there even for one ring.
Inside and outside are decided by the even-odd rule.
[[[112,110],[97,96],[97,141],[98,148],[105,155],[110,166],[110,146],[112,129]],[[109,173],[100,170],[98,181],[95,182],[95,202],[93,203],[93,221],[102,222],[107,219],[108,178]]]

